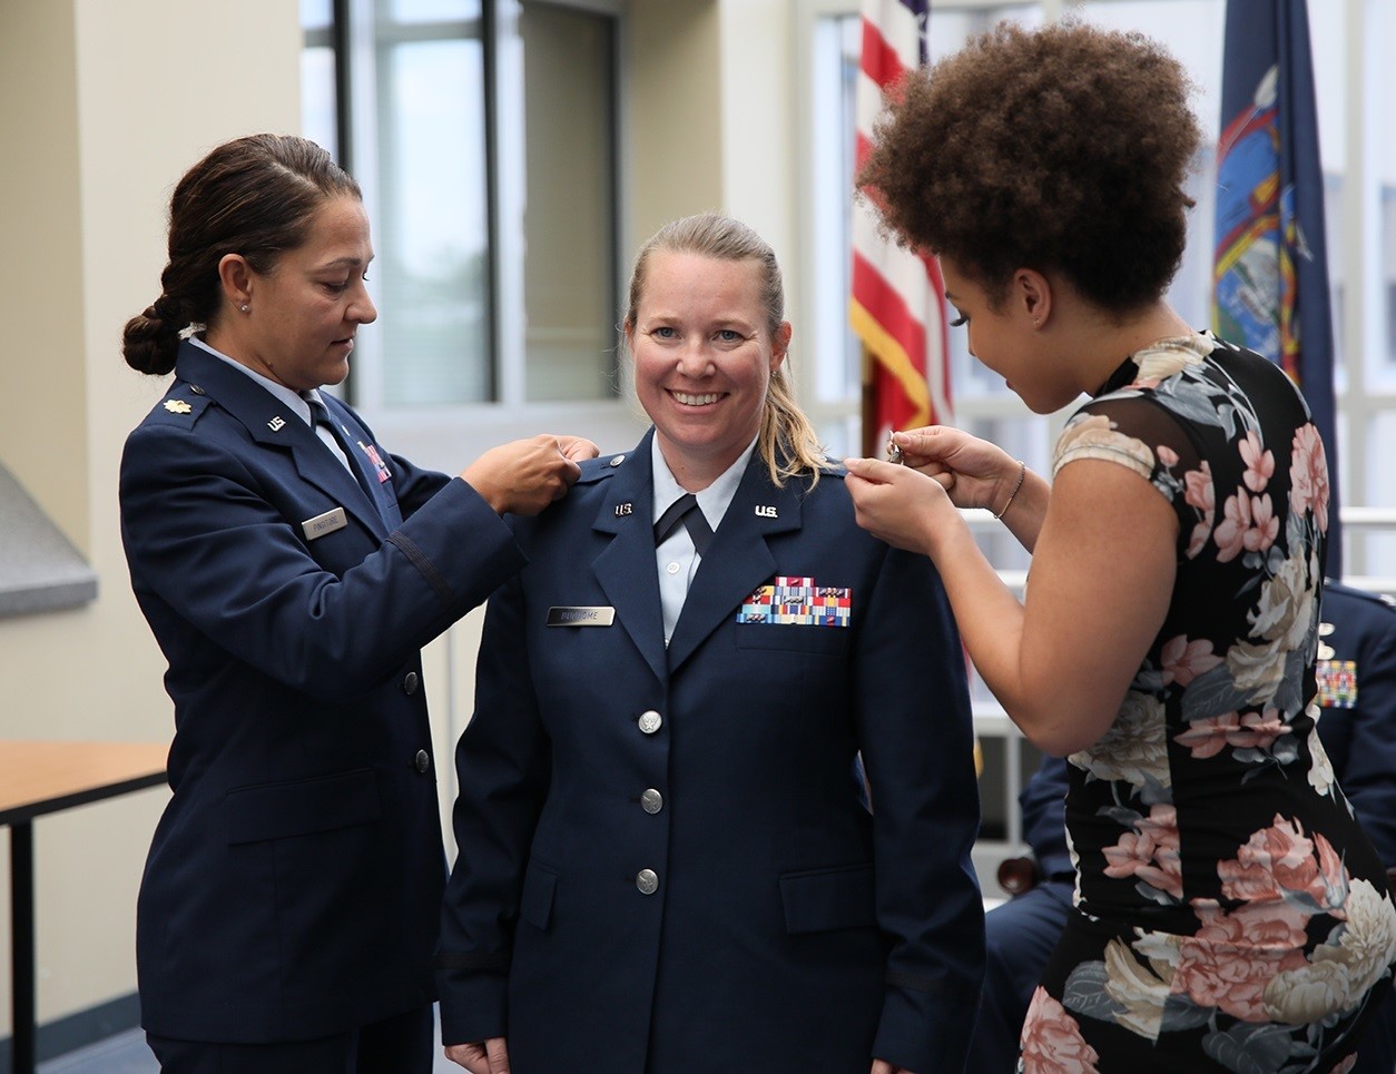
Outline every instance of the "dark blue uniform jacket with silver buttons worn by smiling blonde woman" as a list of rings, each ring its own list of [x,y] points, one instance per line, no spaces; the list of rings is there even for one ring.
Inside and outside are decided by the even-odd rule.
[[[839,471],[776,488],[752,456],[666,650],[652,435],[514,520],[529,566],[456,748],[443,1039],[507,1036],[519,1074],[958,1071],[979,799],[934,569],[854,524]],[[792,594],[846,625],[771,621]]]

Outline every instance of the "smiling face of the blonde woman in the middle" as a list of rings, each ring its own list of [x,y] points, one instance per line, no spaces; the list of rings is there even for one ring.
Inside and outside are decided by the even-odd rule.
[[[664,460],[685,488],[706,488],[759,431],[790,343],[787,322],[768,326],[761,262],[652,251],[625,339]]]

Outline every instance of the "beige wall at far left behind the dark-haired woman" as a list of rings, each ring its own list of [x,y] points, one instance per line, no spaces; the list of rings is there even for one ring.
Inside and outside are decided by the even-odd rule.
[[[299,127],[299,47],[286,0],[0,3],[0,459],[99,577],[87,608],[0,619],[0,738],[170,734],[116,509],[121,442],[163,381],[123,364],[120,332],[158,294],[174,180],[225,138]],[[35,823],[40,1022],[134,989],[135,888],[165,798]],[[6,928],[6,967],[8,943]],[[6,1034],[8,992],[4,974]]]

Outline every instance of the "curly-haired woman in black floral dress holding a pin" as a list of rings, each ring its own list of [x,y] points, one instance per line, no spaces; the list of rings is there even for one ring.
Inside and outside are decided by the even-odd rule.
[[[863,174],[986,367],[1037,413],[1090,396],[1050,485],[946,427],[849,460],[860,523],[935,561],[984,681],[1071,762],[1076,912],[1029,1073],[1344,1071],[1396,961],[1314,731],[1323,444],[1277,367],[1163,300],[1189,89],[1138,35],[1000,27],[910,80]],[[1022,603],[958,506],[1033,552]]]

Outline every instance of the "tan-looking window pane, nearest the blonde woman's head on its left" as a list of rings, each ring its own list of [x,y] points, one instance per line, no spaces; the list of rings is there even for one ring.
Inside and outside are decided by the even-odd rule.
[[[607,399],[618,391],[614,20],[528,3],[518,25],[528,162],[525,395]]]

